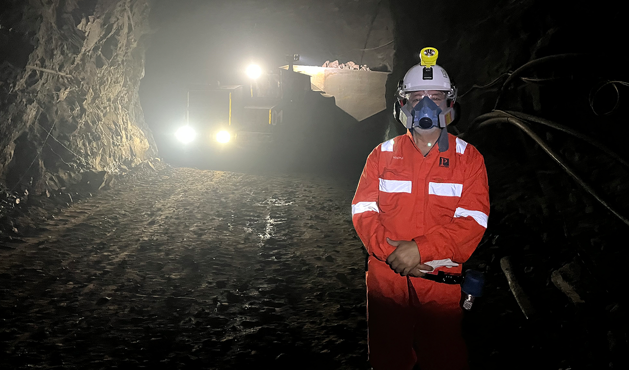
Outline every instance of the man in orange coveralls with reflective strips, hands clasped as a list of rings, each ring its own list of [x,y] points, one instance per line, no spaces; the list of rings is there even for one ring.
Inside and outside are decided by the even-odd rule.
[[[369,253],[373,369],[468,367],[460,286],[419,278],[460,273],[489,215],[482,155],[445,128],[457,90],[437,55],[421,50],[421,64],[401,81],[396,118],[408,131],[371,152],[352,201],[353,225]]]

